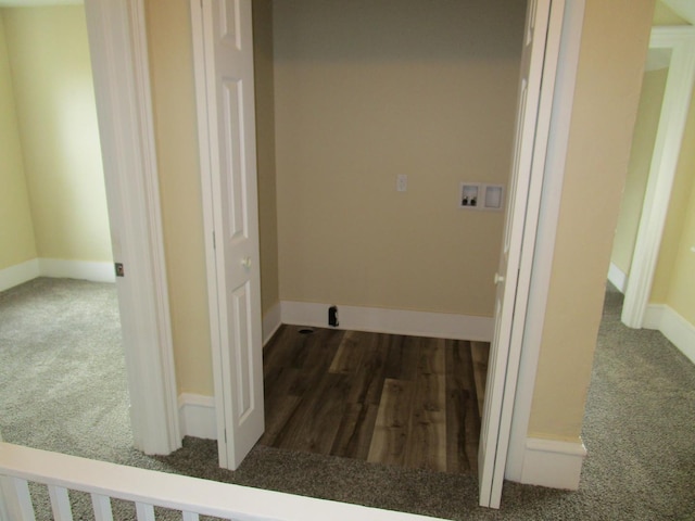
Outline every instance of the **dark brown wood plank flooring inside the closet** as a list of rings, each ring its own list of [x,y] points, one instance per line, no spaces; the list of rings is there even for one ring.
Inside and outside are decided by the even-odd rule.
[[[282,326],[261,444],[475,472],[490,344]]]

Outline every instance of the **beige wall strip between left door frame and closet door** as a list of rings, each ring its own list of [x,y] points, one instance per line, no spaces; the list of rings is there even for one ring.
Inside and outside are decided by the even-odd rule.
[[[164,247],[179,392],[213,395],[190,5],[148,0]]]

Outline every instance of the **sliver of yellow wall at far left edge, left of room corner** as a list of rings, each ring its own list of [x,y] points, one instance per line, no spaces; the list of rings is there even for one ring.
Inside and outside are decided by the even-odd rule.
[[[0,269],[36,257],[10,58],[0,10]]]

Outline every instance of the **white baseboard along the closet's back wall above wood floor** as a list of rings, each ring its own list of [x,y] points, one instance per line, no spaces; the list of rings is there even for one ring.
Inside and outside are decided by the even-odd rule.
[[[282,301],[282,323],[328,327],[330,304]],[[445,313],[338,305],[339,329],[490,342],[494,319]]]

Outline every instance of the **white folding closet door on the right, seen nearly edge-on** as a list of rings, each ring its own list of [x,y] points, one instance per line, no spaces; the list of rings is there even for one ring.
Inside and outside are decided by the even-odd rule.
[[[527,203],[533,164],[536,120],[543,79],[545,42],[551,0],[529,0],[517,102],[517,126],[514,161],[509,178],[506,225],[495,274],[495,329],[490,350],[485,405],[478,452],[480,505],[500,507],[507,444],[500,444],[503,397],[507,379],[513,328],[523,325],[525,316],[516,316],[517,283]],[[538,151],[535,153],[539,153]],[[515,323],[516,320],[516,323]],[[508,433],[507,433],[508,434]]]

